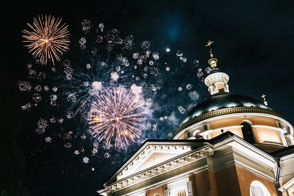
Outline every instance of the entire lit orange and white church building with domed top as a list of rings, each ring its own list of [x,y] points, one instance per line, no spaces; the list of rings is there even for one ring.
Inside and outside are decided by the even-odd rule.
[[[210,96],[192,108],[172,140],[145,141],[99,194],[294,195],[293,126],[266,101],[229,92],[229,76],[210,54]]]

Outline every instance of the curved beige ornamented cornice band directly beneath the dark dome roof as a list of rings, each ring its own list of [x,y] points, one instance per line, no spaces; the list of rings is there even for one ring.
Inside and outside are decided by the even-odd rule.
[[[236,113],[259,113],[259,114],[267,114],[267,115],[273,115],[273,116],[277,116],[281,119],[284,119],[284,116],[282,116],[281,114],[273,111],[273,110],[269,110],[266,108],[261,108],[261,107],[231,107],[231,108],[224,108],[224,109],[219,109],[216,111],[210,111],[207,112],[205,114],[199,115],[199,116],[195,116],[193,119],[188,120],[187,122],[183,123],[181,126],[179,126],[179,128],[175,131],[175,133],[173,134],[175,138],[175,136],[177,134],[179,134],[182,130],[190,127],[191,125],[194,125],[196,123],[199,123],[201,121],[213,118],[213,117],[218,117],[218,116],[222,116],[222,115],[229,115],[229,114],[236,114]]]

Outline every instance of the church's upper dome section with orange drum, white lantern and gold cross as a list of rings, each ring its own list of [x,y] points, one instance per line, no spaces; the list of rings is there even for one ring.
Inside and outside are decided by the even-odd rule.
[[[211,41],[206,46],[211,45]],[[279,113],[249,96],[229,92],[229,76],[216,68],[217,59],[210,47],[212,69],[204,79],[210,94],[193,107],[175,130],[173,139],[210,140],[229,131],[244,141],[273,152],[294,145],[293,126]]]

